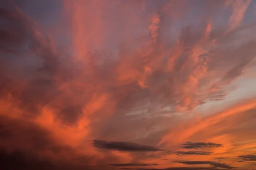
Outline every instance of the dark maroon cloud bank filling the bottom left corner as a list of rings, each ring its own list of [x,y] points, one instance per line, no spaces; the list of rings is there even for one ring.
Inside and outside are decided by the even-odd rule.
[[[0,165],[4,170],[88,169],[91,161],[73,148],[56,143],[49,131],[21,119],[0,116],[0,139]]]

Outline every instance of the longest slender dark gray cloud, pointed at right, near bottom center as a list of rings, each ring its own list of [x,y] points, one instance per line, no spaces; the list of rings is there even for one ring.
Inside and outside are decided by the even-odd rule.
[[[102,149],[133,151],[133,152],[149,152],[149,151],[162,151],[161,149],[150,146],[137,144],[132,142],[107,142],[102,140],[93,140],[93,145]]]

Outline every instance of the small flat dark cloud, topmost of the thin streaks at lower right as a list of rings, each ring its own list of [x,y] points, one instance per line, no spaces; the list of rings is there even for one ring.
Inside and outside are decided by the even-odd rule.
[[[183,149],[203,149],[203,148],[213,148],[213,147],[221,147],[222,144],[216,144],[211,142],[186,142],[182,144]]]

